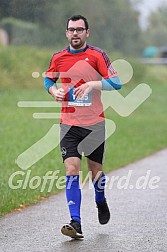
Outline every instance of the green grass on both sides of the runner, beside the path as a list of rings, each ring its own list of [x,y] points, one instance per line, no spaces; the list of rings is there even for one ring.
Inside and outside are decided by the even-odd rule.
[[[18,101],[52,101],[52,97],[42,87],[42,77],[38,79],[31,77],[33,71],[40,73],[45,71],[51,54],[52,52],[35,48],[0,50],[0,67],[2,69],[0,86],[0,215],[19,208],[21,205],[36,203],[42,197],[48,197],[58,192],[56,183],[51,192],[48,192],[49,183],[44,192],[40,191],[41,186],[32,190],[28,184],[26,189],[21,187],[13,190],[8,185],[10,176],[17,171],[24,172],[24,175],[17,175],[13,183],[17,185],[19,180],[20,183],[22,180],[25,181],[27,171],[23,171],[16,165],[17,156],[42,138],[54,123],[58,123],[56,120],[37,120],[32,117],[34,112],[55,112],[55,108],[17,107]],[[136,85],[145,82],[152,88],[152,95],[129,117],[120,117],[112,109],[106,111],[106,116],[116,123],[117,129],[107,140],[105,172],[134,162],[167,146],[166,67],[135,64],[134,78],[124,86],[121,93],[126,95]],[[85,159],[83,159],[82,169],[86,175]],[[51,151],[28,170],[31,171],[28,181],[34,176],[39,176],[42,179],[48,171],[60,170],[59,176],[65,175],[59,148]]]

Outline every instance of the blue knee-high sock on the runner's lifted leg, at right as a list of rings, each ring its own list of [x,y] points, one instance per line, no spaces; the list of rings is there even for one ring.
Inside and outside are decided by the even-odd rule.
[[[102,175],[99,180],[97,181],[93,180],[92,182],[95,189],[95,201],[97,203],[103,203],[105,200],[104,190],[105,190],[105,182],[106,182],[104,172],[102,172]]]

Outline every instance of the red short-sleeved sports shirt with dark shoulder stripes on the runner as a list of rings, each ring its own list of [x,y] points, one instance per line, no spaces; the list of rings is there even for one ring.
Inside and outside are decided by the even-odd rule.
[[[88,126],[104,120],[101,91],[93,89],[85,100],[74,102],[71,90],[88,81],[99,81],[118,76],[107,54],[97,47],[87,45],[83,50],[70,47],[53,54],[46,77],[56,82],[59,78],[65,91],[62,102],[61,123]],[[88,101],[86,103],[86,100]]]

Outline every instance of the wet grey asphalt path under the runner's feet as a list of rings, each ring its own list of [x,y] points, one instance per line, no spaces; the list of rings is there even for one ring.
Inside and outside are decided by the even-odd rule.
[[[121,188],[127,186],[130,173],[128,188]],[[82,189],[84,240],[71,240],[60,233],[62,224],[69,220],[65,193],[61,192],[21,212],[2,217],[0,251],[166,252],[167,149],[107,175],[110,180],[106,197],[111,210],[107,225],[98,223],[94,191],[87,183]]]

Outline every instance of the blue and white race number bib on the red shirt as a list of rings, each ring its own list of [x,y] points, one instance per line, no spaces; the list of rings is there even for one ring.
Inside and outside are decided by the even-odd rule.
[[[87,95],[81,95],[78,99],[75,99],[75,88],[68,88],[68,105],[69,106],[91,106],[92,105],[92,93]]]

